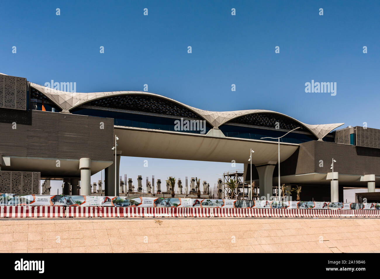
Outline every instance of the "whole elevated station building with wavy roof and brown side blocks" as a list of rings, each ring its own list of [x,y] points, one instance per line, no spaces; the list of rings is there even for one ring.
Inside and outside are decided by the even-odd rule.
[[[184,120],[204,130],[178,130]],[[0,74],[0,192],[40,194],[40,180],[63,179],[64,194],[89,195],[91,175],[105,169],[105,195],[115,195],[120,156],[234,161],[249,182],[252,148],[252,179],[269,196],[280,148],[281,183],[302,186],[303,200],[338,202],[344,187],[374,192],[380,180],[380,130],[342,125],[261,109],[202,110],[145,91],[60,91]],[[280,143],[262,139],[294,128]]]

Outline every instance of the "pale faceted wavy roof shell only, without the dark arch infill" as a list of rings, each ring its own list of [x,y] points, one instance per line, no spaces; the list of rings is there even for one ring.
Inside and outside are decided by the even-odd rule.
[[[113,92],[94,92],[94,93],[71,93],[60,90],[55,90],[49,87],[45,87],[39,84],[34,84],[30,82],[30,86],[45,95],[49,98],[55,105],[62,109],[62,112],[70,112],[70,110],[86,104],[87,102],[94,101],[97,99],[107,98],[111,96],[120,96],[120,95],[146,95],[162,98],[171,102],[174,102],[180,106],[185,107],[186,109],[196,113],[202,119],[206,120],[215,128],[231,121],[235,118],[250,115],[253,113],[275,113],[287,117],[291,120],[298,122],[300,125],[308,129],[315,137],[319,140],[323,139],[329,132],[336,129],[337,127],[343,125],[344,123],[333,123],[333,124],[321,124],[321,125],[309,125],[303,123],[299,120],[296,120],[288,115],[283,113],[274,112],[272,110],[262,110],[262,109],[252,109],[252,110],[237,110],[237,111],[227,111],[227,112],[215,112],[210,110],[197,109],[196,107],[191,107],[186,104],[183,104],[179,101],[176,101],[165,96],[161,96],[154,93],[149,93],[146,91],[113,91]]]

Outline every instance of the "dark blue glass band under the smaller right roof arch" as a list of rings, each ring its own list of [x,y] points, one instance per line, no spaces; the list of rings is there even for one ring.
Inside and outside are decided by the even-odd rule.
[[[255,139],[255,140],[260,140],[261,137],[281,137],[284,134],[286,134],[286,132],[284,131],[249,128],[249,127],[226,125],[226,124],[220,126],[219,129],[223,132],[223,134],[226,137],[239,137],[243,139]],[[263,139],[263,140],[274,141],[274,139]],[[309,142],[310,140],[317,140],[317,138],[311,134],[307,135],[307,134],[299,134],[296,132],[292,132],[290,134],[287,134],[287,136],[281,138],[280,142],[302,143],[302,142]]]

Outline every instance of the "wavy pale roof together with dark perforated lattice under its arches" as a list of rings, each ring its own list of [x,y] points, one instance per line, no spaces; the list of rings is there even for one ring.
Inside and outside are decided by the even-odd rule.
[[[165,96],[145,91],[113,91],[94,93],[71,93],[44,87],[30,82],[30,86],[49,98],[54,104],[62,109],[62,112],[70,112],[71,109],[83,104],[91,106],[113,107],[144,112],[161,113],[173,116],[201,118],[214,127],[225,123],[243,123],[257,126],[273,126],[273,121],[280,122],[281,129],[294,129],[301,126],[312,132],[318,139],[322,139],[333,129],[344,123],[309,125],[302,123],[283,113],[272,110],[237,110],[228,112],[215,112],[197,109]],[[279,121],[279,119],[281,119]],[[282,126],[281,126],[282,125]],[[293,128],[294,127],[294,128]]]

